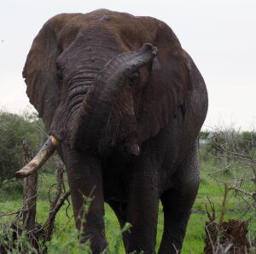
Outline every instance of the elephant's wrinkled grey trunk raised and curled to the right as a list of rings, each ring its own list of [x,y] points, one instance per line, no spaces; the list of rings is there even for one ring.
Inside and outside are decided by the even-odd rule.
[[[121,53],[108,61],[96,76],[76,118],[71,123],[69,141],[73,147],[99,150],[99,142],[108,124],[119,90],[133,72],[151,61],[156,54],[156,47],[144,43],[141,49]]]

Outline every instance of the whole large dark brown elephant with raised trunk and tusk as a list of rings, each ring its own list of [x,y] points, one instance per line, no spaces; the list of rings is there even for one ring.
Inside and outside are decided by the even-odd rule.
[[[29,176],[56,150],[80,244],[90,240],[93,253],[108,248],[106,202],[120,227],[131,223],[125,251],[155,253],[161,201],[159,253],[180,251],[200,182],[198,136],[208,102],[204,79],[172,29],[107,9],[57,14],[34,39],[23,78],[49,139],[16,176]]]

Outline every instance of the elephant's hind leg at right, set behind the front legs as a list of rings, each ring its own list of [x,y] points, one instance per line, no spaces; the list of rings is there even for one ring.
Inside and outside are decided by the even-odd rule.
[[[181,253],[183,238],[199,185],[196,146],[174,177],[175,188],[166,191],[160,197],[165,220],[160,254]]]

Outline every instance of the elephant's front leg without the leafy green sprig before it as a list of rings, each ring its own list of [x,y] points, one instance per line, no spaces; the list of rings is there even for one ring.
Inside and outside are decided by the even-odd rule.
[[[128,253],[155,253],[158,205],[157,170],[146,156],[141,157],[133,169],[129,186],[127,219],[131,223],[131,234]]]

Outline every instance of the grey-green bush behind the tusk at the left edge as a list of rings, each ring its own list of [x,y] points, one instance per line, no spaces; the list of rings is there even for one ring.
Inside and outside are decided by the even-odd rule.
[[[0,112],[0,187],[23,166],[22,141],[35,153],[45,139],[44,124],[35,115]]]

